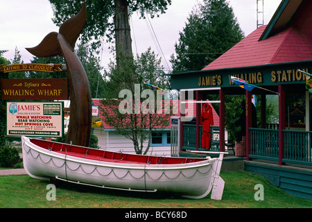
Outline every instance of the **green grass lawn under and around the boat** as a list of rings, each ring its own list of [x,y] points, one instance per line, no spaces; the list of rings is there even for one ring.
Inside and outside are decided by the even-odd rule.
[[[266,178],[247,172],[232,171],[221,173],[225,180],[222,200],[211,200],[210,196],[191,200],[168,193],[146,194],[144,192],[101,189],[69,182],[58,181],[56,200],[46,200],[49,189],[47,180],[30,176],[0,176],[0,207],[14,208],[306,208],[312,200],[296,198],[270,185]],[[254,200],[257,190],[254,185],[264,188],[264,200]]]

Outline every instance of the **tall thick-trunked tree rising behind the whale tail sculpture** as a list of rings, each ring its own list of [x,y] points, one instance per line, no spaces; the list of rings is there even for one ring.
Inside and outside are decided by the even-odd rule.
[[[62,24],[62,22],[72,15],[76,15],[83,3],[81,0],[50,0],[50,2],[53,3],[54,8],[53,22],[57,25]],[[151,17],[155,15],[159,16],[159,12],[164,13],[167,6],[171,4],[171,0],[94,0],[87,1],[86,4],[87,22],[82,33],[83,42],[92,40],[92,49],[96,49],[103,41],[105,33],[109,41],[113,38],[115,39],[116,66],[112,67],[110,76],[108,76],[110,78],[110,84],[107,84],[107,89],[110,89],[110,91],[106,91],[105,98],[107,99],[104,101],[114,103],[110,105],[112,109],[114,108],[116,110],[117,104],[114,99],[118,98],[119,89],[128,89],[134,95],[135,83],[137,83],[136,65],[132,56],[129,15],[139,12],[141,17],[144,17],[145,13]],[[115,113],[116,115],[118,114],[118,112]],[[107,114],[105,121],[108,121],[110,117],[112,115]],[[116,116],[116,118],[120,118],[121,123],[124,117],[120,117],[120,115]],[[139,142],[142,144],[144,139],[146,139],[146,125],[143,126],[142,124],[146,122],[148,115],[141,116],[140,123],[137,115],[130,114],[129,117],[130,119],[132,118],[130,122],[134,121],[135,127],[138,126],[138,128],[132,128],[130,134],[132,134],[131,138],[133,139],[135,148],[137,148],[137,153],[141,153]],[[116,118],[112,120],[116,121]],[[124,121],[123,123],[127,122]],[[120,128],[128,128],[126,125],[123,124]],[[152,128],[152,121],[149,121],[148,127]],[[129,132],[128,129],[122,132],[125,131]],[[146,152],[147,150],[148,148]]]

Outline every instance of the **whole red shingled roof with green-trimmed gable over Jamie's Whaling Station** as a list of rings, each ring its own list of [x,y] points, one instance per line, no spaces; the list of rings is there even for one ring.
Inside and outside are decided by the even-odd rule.
[[[202,70],[312,60],[312,1],[284,0],[261,26]]]

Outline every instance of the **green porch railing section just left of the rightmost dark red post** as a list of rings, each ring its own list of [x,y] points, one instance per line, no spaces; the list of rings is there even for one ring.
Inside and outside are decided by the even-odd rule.
[[[250,128],[251,158],[279,160],[279,130]]]

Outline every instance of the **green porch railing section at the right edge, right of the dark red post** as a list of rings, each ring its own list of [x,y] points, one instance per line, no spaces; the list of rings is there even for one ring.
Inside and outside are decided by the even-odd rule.
[[[283,130],[285,148],[283,162],[312,165],[312,132]]]

